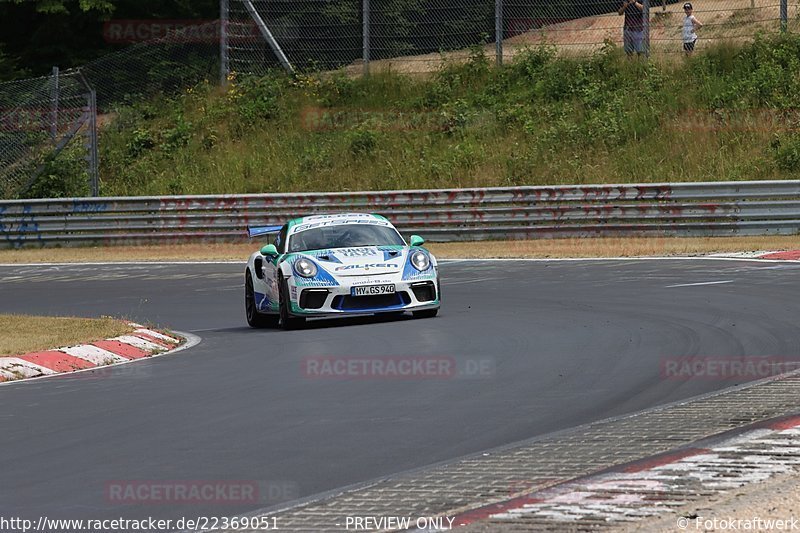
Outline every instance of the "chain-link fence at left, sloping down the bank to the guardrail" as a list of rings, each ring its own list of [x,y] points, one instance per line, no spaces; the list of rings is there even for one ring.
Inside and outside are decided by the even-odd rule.
[[[120,21],[111,35],[150,34],[142,31],[148,24],[153,22]],[[80,69],[0,84],[0,198],[26,195],[47,162],[65,150],[81,152],[86,192],[98,194],[98,116],[102,120],[118,105],[216,80],[219,34],[218,20],[200,21],[134,42]]]

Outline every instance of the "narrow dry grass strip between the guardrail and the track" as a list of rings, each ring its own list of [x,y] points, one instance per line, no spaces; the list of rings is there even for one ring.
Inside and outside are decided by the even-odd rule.
[[[800,249],[800,236],[708,238],[597,238],[428,243],[441,259],[569,258],[699,255]],[[241,261],[258,243],[185,244],[99,248],[0,250],[0,263],[91,263],[130,261]]]

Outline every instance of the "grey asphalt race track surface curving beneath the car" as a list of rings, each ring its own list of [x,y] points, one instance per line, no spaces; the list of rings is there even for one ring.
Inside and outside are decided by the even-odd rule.
[[[688,356],[800,361],[800,265],[445,262],[435,319],[252,330],[243,264],[0,267],[0,312],[116,315],[202,343],[0,386],[0,515],[178,518],[269,507],[729,387]],[[310,376],[308,358],[428,357],[425,378]],[[246,504],[115,500],[120,482],[254,481]]]

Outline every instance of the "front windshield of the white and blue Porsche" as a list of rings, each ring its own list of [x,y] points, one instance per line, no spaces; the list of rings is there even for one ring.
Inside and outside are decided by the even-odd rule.
[[[397,230],[392,227],[371,224],[342,224],[322,226],[295,233],[289,238],[289,252],[388,244],[401,246],[405,244]]]

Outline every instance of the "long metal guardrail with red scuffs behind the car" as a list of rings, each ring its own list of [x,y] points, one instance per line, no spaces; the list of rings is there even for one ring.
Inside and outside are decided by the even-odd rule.
[[[430,241],[798,234],[800,181],[0,201],[0,246],[241,241],[353,211]]]

